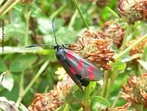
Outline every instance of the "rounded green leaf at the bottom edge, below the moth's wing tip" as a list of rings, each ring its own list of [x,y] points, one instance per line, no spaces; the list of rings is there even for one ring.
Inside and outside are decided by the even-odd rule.
[[[93,109],[92,111],[98,108],[104,109],[110,106],[109,102],[105,98],[100,97],[100,96],[94,96],[91,99],[91,103],[92,103],[92,109]]]

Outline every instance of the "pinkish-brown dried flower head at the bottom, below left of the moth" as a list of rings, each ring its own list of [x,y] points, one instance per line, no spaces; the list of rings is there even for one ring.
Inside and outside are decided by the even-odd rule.
[[[49,93],[36,94],[29,111],[55,111],[64,103],[73,85],[74,82],[67,76],[65,81],[58,82]]]

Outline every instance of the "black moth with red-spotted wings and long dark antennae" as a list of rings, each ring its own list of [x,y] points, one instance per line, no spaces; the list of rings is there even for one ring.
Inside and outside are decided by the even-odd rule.
[[[71,49],[65,47],[64,45],[59,45],[57,43],[54,19],[52,20],[52,29],[55,38],[54,50],[56,58],[80,89],[83,90],[83,86],[88,86],[89,81],[99,81],[104,77],[101,70],[94,64],[74,53]],[[39,44],[34,44],[30,47],[38,45]]]

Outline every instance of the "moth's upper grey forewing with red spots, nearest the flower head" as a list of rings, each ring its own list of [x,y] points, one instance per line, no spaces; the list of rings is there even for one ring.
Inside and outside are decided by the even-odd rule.
[[[99,81],[104,77],[100,69],[98,69],[94,64],[83,59],[71,50],[64,50],[70,66],[72,66],[76,70],[76,72],[84,79],[89,81]]]

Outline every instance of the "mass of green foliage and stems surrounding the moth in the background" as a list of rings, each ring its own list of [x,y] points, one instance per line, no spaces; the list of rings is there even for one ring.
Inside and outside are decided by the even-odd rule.
[[[1,97],[15,101],[20,111],[27,111],[26,107],[32,103],[35,93],[49,92],[56,86],[59,80],[55,71],[61,66],[53,50],[53,18],[59,44],[74,43],[77,36],[82,35],[86,29],[97,31],[106,21],[112,20],[119,22],[126,33],[121,48],[113,47],[116,60],[110,63],[112,70],[103,70],[104,84],[100,86],[96,82],[91,82],[84,91],[74,86],[67,100],[56,111],[82,111],[82,105],[86,106],[87,111],[89,107],[92,111],[98,111],[126,103],[119,98],[122,84],[126,84],[130,74],[140,75],[147,70],[147,47],[138,61],[139,64],[132,64],[132,60],[138,55],[129,55],[130,50],[146,38],[146,26],[142,22],[132,26],[120,20],[115,13],[115,0],[111,0],[108,7],[103,8],[82,0],[78,1],[78,4],[75,0],[34,0],[32,3],[14,3],[16,4],[11,4],[0,14],[0,18],[5,22],[4,52],[0,52]],[[2,8],[1,5],[0,10]],[[128,41],[142,34],[142,40],[136,40],[126,48]],[[126,38],[129,38],[128,41]],[[26,47],[32,44],[49,46]],[[9,70],[10,73],[6,74]],[[114,102],[115,99],[117,101]]]

